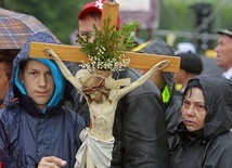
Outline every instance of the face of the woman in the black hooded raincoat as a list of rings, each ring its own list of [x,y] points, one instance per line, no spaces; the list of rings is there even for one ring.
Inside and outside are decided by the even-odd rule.
[[[205,99],[198,88],[190,89],[181,107],[183,124],[189,131],[196,131],[204,128],[205,125]]]

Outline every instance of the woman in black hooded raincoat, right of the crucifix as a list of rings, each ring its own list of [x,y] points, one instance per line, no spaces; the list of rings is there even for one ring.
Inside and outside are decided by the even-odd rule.
[[[181,141],[170,168],[231,168],[232,82],[220,76],[192,78],[181,113]]]

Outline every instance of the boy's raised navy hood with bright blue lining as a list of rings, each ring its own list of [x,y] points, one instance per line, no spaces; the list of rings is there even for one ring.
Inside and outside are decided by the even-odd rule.
[[[52,76],[55,82],[55,90],[54,93],[48,104],[48,106],[54,106],[56,105],[61,99],[64,96],[64,90],[65,90],[65,78],[62,75],[62,73],[60,72],[57,65],[51,61],[51,60],[47,60],[47,59],[33,59],[29,57],[29,43],[30,41],[37,41],[37,42],[47,42],[47,43],[56,43],[55,39],[53,39],[53,37],[47,33],[38,33],[36,35],[34,35],[21,49],[20,53],[16,55],[16,57],[14,59],[13,62],[13,68],[12,68],[12,78],[10,80],[10,86],[9,86],[9,91],[8,91],[8,95],[4,100],[4,105],[9,105],[11,103],[11,100],[13,98],[15,98],[15,92],[14,92],[14,86],[16,86],[16,88],[20,90],[20,92],[22,94],[27,94],[26,90],[24,88],[24,86],[21,83],[20,79],[18,79],[18,67],[20,64],[24,61],[27,60],[37,60],[43,64],[46,64],[52,72]],[[46,113],[46,109],[43,109],[43,113]]]

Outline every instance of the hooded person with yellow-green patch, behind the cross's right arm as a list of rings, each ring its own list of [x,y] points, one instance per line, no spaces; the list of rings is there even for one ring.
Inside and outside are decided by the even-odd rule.
[[[165,43],[163,40],[155,39],[141,46],[138,46],[133,51],[149,54],[160,55],[173,55],[175,51],[171,47]],[[138,69],[142,74],[146,73],[145,69]],[[154,85],[158,87],[162,92],[165,119],[166,119],[166,132],[168,135],[169,151],[171,152],[178,144],[178,132],[176,131],[177,125],[181,121],[180,106],[181,102],[175,93],[175,80],[173,73],[169,72],[156,72],[150,78]]]

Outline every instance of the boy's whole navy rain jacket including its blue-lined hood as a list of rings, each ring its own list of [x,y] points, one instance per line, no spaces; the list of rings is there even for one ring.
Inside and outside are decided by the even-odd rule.
[[[66,160],[66,168],[70,168],[76,161],[75,155],[81,145],[79,133],[86,124],[81,116],[63,106],[62,88],[66,80],[53,61],[37,60],[50,67],[55,81],[48,106],[39,109],[27,95],[15,74],[18,65],[30,59],[30,41],[55,42],[50,35],[38,33],[14,60],[5,108],[0,109],[0,161],[7,168],[36,168],[42,157],[56,156]],[[13,98],[18,98],[18,101],[11,103]]]

